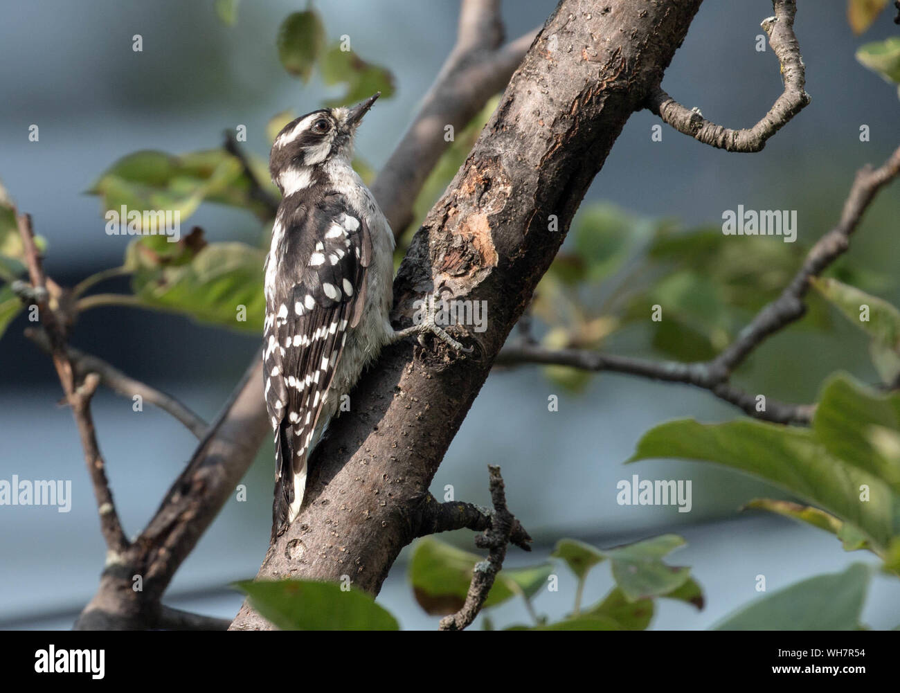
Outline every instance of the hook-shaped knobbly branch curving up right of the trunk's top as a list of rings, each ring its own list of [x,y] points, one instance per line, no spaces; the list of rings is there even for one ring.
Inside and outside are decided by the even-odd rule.
[[[803,59],[794,35],[797,4],[794,0],[773,0],[772,4],[775,16],[763,20],[761,26],[769,36],[769,45],[779,58],[785,88],[761,121],[749,130],[724,128],[707,121],[698,109],[681,105],[660,87],[651,92],[647,108],[675,130],[712,147],[737,152],[757,152],[765,147],[766,140],[809,103],[809,94],[804,89],[806,76]]]

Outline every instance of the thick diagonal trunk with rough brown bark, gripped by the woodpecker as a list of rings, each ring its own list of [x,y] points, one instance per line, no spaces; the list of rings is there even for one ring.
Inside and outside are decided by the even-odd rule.
[[[398,316],[434,287],[486,301],[475,347],[385,351],[311,460],[307,501],[258,577],[338,580],[377,593],[509,330],[563,242],[591,180],[644,107],[701,0],[563,0],[464,166],[413,240],[394,284]],[[558,230],[549,230],[556,215]],[[489,460],[485,460],[489,462]],[[524,518],[523,518],[524,520]],[[271,626],[247,605],[233,629]]]

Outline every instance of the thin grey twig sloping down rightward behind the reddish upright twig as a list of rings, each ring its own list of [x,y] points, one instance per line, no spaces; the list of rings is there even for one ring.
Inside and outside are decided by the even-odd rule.
[[[25,337],[31,339],[44,351],[49,351],[49,338],[46,331],[25,329]],[[115,366],[103,361],[102,358],[85,354],[75,347],[67,347],[66,354],[69,363],[75,368],[77,379],[82,379],[89,373],[95,373],[100,376],[100,382],[113,392],[118,392],[128,398],[139,395],[143,401],[168,412],[175,419],[181,421],[194,436],[202,438],[206,434],[206,430],[209,428],[206,422],[172,395],[150,387],[146,383],[141,383],[139,380],[123,374]]]

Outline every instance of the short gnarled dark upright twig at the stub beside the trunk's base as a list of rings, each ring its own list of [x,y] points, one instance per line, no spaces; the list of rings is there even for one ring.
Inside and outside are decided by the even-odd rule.
[[[483,535],[475,537],[475,545],[478,548],[490,550],[488,560],[475,564],[472,583],[465,596],[463,608],[451,616],[442,618],[441,630],[464,630],[472,625],[484,606],[484,600],[488,599],[488,593],[506,559],[506,547],[516,518],[506,505],[506,491],[503,478],[500,476],[500,467],[489,465],[488,470],[491,473],[491,503],[494,506],[491,527],[486,529]]]

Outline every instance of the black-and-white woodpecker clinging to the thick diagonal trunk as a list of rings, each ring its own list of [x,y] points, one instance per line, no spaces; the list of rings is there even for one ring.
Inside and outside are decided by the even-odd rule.
[[[380,95],[302,115],[272,145],[269,171],[282,193],[266,256],[263,334],[273,536],[300,513],[310,451],[382,347],[430,332],[471,351],[433,313],[409,329],[391,326],[393,232],[350,165],[356,127]]]

